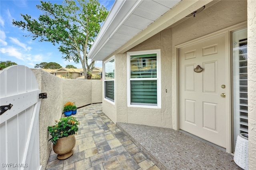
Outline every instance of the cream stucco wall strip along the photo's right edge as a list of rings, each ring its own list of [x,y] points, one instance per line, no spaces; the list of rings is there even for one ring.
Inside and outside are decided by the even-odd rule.
[[[249,169],[256,169],[256,1],[248,0],[248,132]]]

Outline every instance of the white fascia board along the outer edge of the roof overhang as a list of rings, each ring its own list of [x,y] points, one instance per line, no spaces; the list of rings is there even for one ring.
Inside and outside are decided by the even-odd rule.
[[[94,59],[98,51],[104,47],[140,3],[141,0],[116,0],[114,2],[98,36],[88,52],[87,56],[89,59]]]

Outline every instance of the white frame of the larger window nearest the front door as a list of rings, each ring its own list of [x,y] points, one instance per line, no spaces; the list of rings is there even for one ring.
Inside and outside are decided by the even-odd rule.
[[[130,56],[131,55],[146,55],[156,53],[156,78],[130,78]],[[131,103],[131,81],[132,80],[156,80],[157,89],[157,104],[152,105],[150,103],[144,104],[132,104]],[[160,49],[145,50],[145,51],[133,51],[127,52],[127,106],[128,107],[146,107],[146,108],[161,108],[161,51]]]

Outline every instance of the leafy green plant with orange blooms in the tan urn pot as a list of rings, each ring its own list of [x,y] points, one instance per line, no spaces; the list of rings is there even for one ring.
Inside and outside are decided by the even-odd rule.
[[[53,144],[56,144],[59,138],[67,137],[71,134],[76,134],[78,131],[79,121],[75,117],[64,117],[60,121],[55,121],[54,126],[48,127],[48,132],[52,136],[49,139]]]

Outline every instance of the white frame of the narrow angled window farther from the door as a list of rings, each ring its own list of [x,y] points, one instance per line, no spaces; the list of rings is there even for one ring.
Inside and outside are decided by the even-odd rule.
[[[108,58],[106,61],[104,61],[103,62],[103,66],[104,66],[104,69],[103,69],[103,74],[102,74],[102,79],[103,79],[103,95],[104,95],[104,100],[105,101],[108,101],[108,102],[110,102],[110,103],[112,103],[112,104],[114,104],[115,103],[115,99],[116,99],[116,93],[115,93],[115,89],[116,89],[116,83],[115,83],[115,77],[116,77],[116,73],[115,73],[115,71],[114,71],[114,79],[110,79],[110,80],[107,80],[107,79],[105,79],[105,70],[106,70],[106,66],[105,66],[105,64],[106,63],[108,63],[108,62],[110,62],[110,61],[112,61],[114,59],[114,62],[115,62],[115,57],[114,56],[112,56],[112,57],[110,57],[110,58]],[[114,70],[115,70],[115,63],[114,63]],[[106,81],[114,81],[114,99],[110,99],[109,97],[106,97],[106,94],[105,94],[105,82]]]

